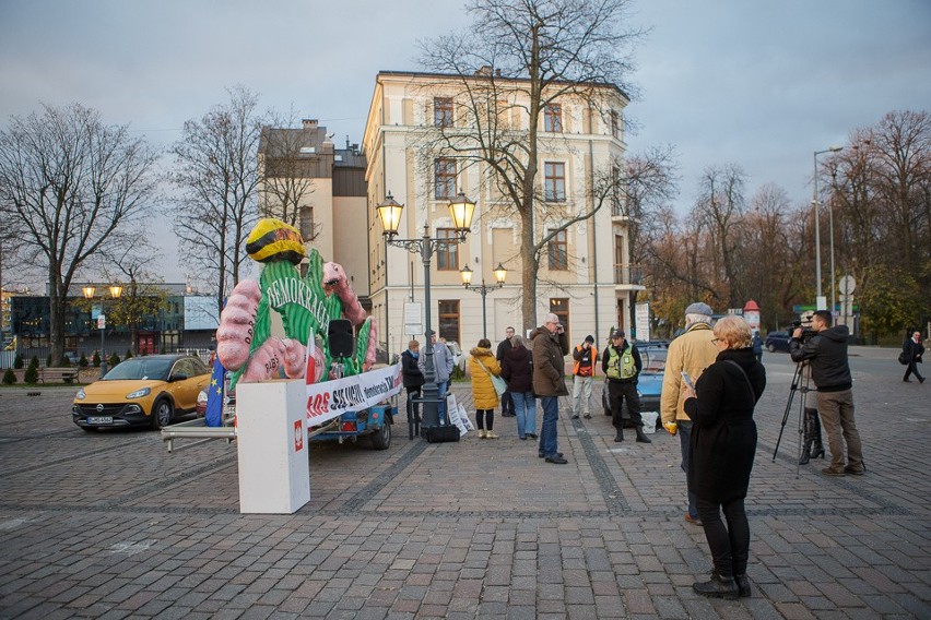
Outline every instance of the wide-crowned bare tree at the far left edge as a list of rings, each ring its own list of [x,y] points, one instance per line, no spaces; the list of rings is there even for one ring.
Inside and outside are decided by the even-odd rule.
[[[155,153],[80,104],[44,106],[0,132],[0,207],[47,270],[52,359],[61,359],[75,274],[153,205]]]

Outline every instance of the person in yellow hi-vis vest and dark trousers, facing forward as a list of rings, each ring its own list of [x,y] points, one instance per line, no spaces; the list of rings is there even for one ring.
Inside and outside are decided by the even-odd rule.
[[[615,443],[624,441],[624,418],[621,415],[624,402],[627,412],[637,429],[639,443],[652,443],[644,434],[644,418],[640,416],[640,395],[637,394],[637,378],[644,369],[640,351],[633,343],[624,337],[624,332],[616,330],[611,334],[611,344],[604,348],[601,356],[601,370],[608,381],[608,402],[611,404],[611,424],[616,429]]]

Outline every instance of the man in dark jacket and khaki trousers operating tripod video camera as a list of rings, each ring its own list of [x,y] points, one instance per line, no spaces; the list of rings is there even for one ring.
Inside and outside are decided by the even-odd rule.
[[[833,317],[818,310],[812,318],[814,334],[797,327],[789,341],[793,361],[808,361],[817,388],[817,409],[830,448],[830,466],[821,470],[825,476],[862,476],[863,451],[860,433],[853,420],[853,380],[847,359],[847,325],[832,326]],[[804,336],[804,337],[803,337]],[[844,464],[844,443],[847,443],[847,465]]]

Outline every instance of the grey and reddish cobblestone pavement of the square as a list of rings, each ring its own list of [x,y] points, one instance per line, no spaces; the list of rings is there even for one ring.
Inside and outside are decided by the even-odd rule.
[[[240,515],[235,443],[168,454],[158,433],[89,433],[71,389],[0,390],[2,618],[931,618],[931,383],[853,349],[868,474],[797,475],[793,366],[767,354],[747,509],[751,598],[702,598],[679,438],[615,444],[570,420],[545,464],[498,440],[314,444],[311,501]],[[596,386],[600,394],[600,385]],[[468,384],[453,388],[467,409]],[[631,433],[633,434],[633,433]]]

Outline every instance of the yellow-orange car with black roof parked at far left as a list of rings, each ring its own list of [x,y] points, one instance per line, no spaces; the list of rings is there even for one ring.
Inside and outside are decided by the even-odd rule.
[[[150,355],[118,363],[74,396],[71,419],[86,431],[98,428],[172,424],[197,407],[210,383],[210,369],[190,355]]]

